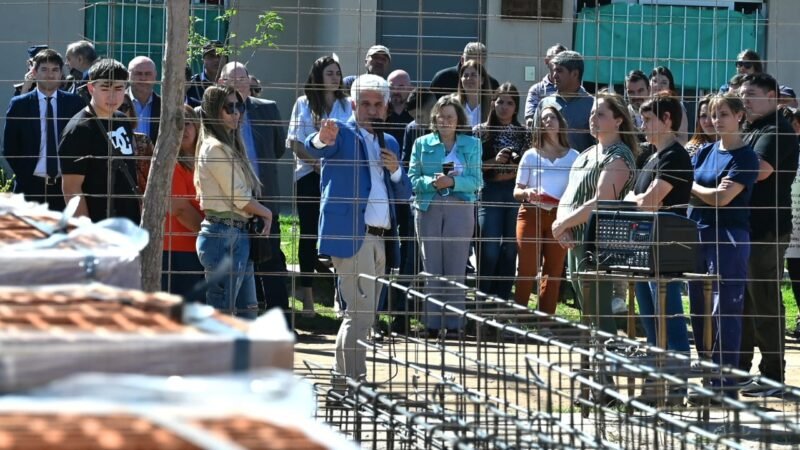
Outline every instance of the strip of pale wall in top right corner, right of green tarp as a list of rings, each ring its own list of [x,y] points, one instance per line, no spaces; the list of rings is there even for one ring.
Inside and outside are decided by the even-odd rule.
[[[778,82],[800,88],[800,7],[797,0],[769,0],[767,21],[767,72]]]

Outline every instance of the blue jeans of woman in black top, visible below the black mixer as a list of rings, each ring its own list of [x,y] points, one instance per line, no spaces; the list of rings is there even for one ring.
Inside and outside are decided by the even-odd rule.
[[[636,283],[636,301],[639,303],[639,320],[647,334],[647,343],[656,345],[658,321],[658,283]],[[667,350],[686,353],[689,355],[689,331],[686,328],[686,319],[683,316],[683,302],[681,300],[681,282],[667,283],[667,301],[664,314],[667,317]],[[678,317],[675,317],[678,316]]]

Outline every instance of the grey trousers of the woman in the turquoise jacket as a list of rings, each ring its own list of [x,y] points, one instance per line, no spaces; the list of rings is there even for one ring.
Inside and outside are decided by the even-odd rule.
[[[475,204],[452,195],[434,197],[427,211],[416,211],[415,225],[425,272],[464,283],[469,246],[475,228]],[[439,280],[427,280],[426,293],[432,298],[464,309],[463,289]],[[425,302],[422,322],[429,330],[459,330],[463,319],[455,313]]]

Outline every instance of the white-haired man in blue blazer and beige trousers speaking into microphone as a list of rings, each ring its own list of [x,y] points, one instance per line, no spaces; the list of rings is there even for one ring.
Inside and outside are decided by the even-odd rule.
[[[360,380],[367,365],[358,340],[366,340],[375,320],[381,285],[359,275],[384,275],[384,240],[390,239],[398,254],[394,206],[409,201],[411,183],[399,163],[397,141],[373,129],[385,120],[389,84],[377,75],[361,75],[350,95],[353,118],[347,123],[323,120],[305,147],[321,158],[319,251],[331,256],[347,303],[336,336],[335,371]],[[338,381],[335,388],[341,387]]]

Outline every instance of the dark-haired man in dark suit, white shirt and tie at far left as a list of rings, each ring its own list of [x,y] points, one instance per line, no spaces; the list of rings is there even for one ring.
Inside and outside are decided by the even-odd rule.
[[[64,209],[58,161],[61,131],[84,106],[77,95],[58,90],[63,69],[64,60],[55,50],[42,50],[33,58],[36,89],[11,99],[3,138],[15,192],[30,201],[47,202],[54,210]]]

